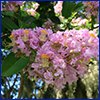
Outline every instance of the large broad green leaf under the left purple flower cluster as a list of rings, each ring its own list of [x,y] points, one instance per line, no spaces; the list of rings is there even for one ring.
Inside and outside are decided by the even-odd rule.
[[[15,58],[14,53],[10,53],[3,61],[1,65],[2,76],[13,75],[21,71],[28,64],[30,57],[28,58]]]

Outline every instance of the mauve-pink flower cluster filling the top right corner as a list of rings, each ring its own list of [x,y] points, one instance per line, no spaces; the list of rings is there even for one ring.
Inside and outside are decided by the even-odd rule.
[[[86,6],[86,17],[93,15],[96,22],[99,22],[99,1],[83,1],[83,5]]]

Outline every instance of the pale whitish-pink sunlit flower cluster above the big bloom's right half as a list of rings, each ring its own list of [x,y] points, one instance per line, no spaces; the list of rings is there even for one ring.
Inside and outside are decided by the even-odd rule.
[[[73,23],[75,26],[86,25],[87,19],[82,19],[81,17],[78,17],[77,19],[72,19],[72,23]]]

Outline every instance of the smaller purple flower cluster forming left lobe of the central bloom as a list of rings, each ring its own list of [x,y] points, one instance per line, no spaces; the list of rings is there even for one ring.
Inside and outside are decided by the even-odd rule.
[[[44,43],[52,33],[52,30],[40,27],[36,27],[36,29],[33,30],[13,30],[9,37],[12,40],[9,46],[13,46],[12,52],[17,53],[17,56],[21,54],[29,56],[32,50],[37,50],[40,44]]]

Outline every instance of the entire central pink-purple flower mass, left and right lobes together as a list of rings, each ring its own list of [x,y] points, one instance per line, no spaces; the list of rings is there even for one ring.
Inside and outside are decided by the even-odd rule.
[[[21,53],[29,56],[32,51],[37,51],[35,62],[31,59],[27,69],[28,78],[42,78],[57,91],[64,88],[66,82],[72,84],[79,77],[84,78],[84,74],[89,73],[86,64],[91,58],[99,59],[99,39],[94,31],[87,29],[54,34],[41,27],[18,29],[12,31],[10,38],[16,57]]]

